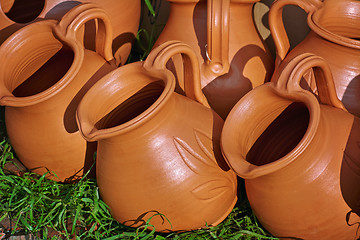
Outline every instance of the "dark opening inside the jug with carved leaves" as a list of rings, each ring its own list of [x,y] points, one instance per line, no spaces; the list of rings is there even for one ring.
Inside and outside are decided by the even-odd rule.
[[[146,85],[100,119],[95,127],[99,130],[112,128],[136,118],[155,103],[164,88],[160,80]]]

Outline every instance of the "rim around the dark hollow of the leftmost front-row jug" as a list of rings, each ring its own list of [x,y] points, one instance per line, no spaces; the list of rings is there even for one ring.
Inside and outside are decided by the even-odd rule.
[[[23,28],[19,29],[18,31],[16,31],[14,34],[12,34],[9,38],[7,38],[4,43],[1,45],[0,47],[0,57],[1,55],[7,56],[9,53],[9,51],[14,51],[13,49],[15,49],[16,51],[19,51],[19,46],[20,47],[26,47],[28,45],[25,45],[25,43],[30,43],[32,42],[31,37],[34,36],[34,34],[43,34],[45,31],[43,32],[36,32],[34,33],[34,31],[32,29],[36,29],[37,27],[43,27],[46,26],[47,31],[51,34],[53,34],[54,36],[54,40],[57,41],[59,43],[59,45],[63,45],[68,47],[68,49],[70,51],[73,52],[73,61],[71,66],[68,68],[68,70],[66,71],[66,73],[52,86],[50,86],[49,88],[45,89],[42,92],[30,95],[30,96],[25,96],[25,97],[16,97],[12,94],[12,91],[15,89],[13,89],[12,91],[10,91],[7,87],[5,87],[6,90],[6,95],[3,95],[4,93],[1,92],[0,94],[3,96],[0,96],[0,105],[5,105],[5,106],[13,106],[13,107],[25,107],[25,106],[31,106],[31,105],[35,105],[37,103],[43,102],[49,98],[51,98],[52,96],[56,95],[58,92],[60,92],[62,89],[64,89],[70,82],[71,80],[76,76],[76,74],[78,73],[78,71],[81,68],[82,62],[84,60],[84,49],[75,41],[72,40],[67,40],[67,39],[59,39],[56,34],[54,34],[54,32],[52,31],[57,25],[57,21],[56,20],[52,20],[52,19],[48,19],[48,20],[43,20],[43,21],[39,21],[39,22],[34,22],[32,24],[26,25]],[[54,42],[55,42],[54,41]],[[16,48],[14,48],[13,46],[17,46]],[[31,45],[31,43],[30,43]],[[51,44],[49,42],[49,44],[47,44],[50,46],[53,46],[54,44]],[[35,51],[39,51],[39,48],[33,47],[32,50]],[[40,50],[49,50],[49,48],[42,48]],[[28,61],[34,61],[34,59],[31,58],[32,56],[29,57]],[[15,66],[18,67],[18,66]],[[0,68],[4,68],[4,64],[2,64],[2,66]],[[1,75],[2,77],[5,77],[5,73],[6,71],[1,71]],[[16,74],[15,76],[16,77]],[[26,81],[26,80],[25,80]]]

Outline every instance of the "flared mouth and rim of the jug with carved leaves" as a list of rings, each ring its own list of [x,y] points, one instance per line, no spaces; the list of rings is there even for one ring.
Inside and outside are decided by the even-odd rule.
[[[163,110],[175,89],[168,70],[124,65],[100,79],[81,100],[77,122],[88,141],[124,134]],[[101,96],[101,97],[100,97]]]

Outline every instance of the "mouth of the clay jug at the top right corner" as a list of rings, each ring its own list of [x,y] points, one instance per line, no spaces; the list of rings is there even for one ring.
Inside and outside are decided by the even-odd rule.
[[[337,43],[350,48],[360,48],[360,14],[358,11],[346,13],[352,9],[351,6],[330,9],[325,5],[308,15],[308,25],[312,31],[330,42]],[[347,1],[350,2],[350,1]],[[354,9],[360,9],[359,3]],[[334,7],[334,6],[333,6]],[[330,11],[331,10],[331,11]]]

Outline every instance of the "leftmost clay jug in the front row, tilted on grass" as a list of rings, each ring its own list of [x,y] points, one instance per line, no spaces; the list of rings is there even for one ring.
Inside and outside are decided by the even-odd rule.
[[[96,52],[78,40],[78,30],[92,19],[99,25]],[[71,181],[92,165],[94,148],[81,137],[75,111],[86,90],[115,68],[108,62],[111,36],[104,10],[82,4],[60,22],[21,28],[1,45],[0,105],[6,106],[9,140],[27,168]]]

